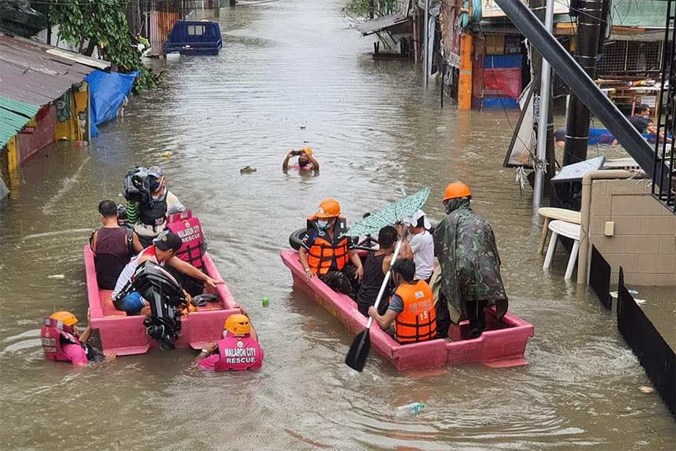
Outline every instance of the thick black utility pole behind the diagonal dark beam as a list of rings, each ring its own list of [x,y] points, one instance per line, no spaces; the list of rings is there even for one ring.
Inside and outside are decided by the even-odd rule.
[[[596,78],[596,53],[601,38],[604,0],[581,0],[577,15],[577,36],[575,38],[575,60],[592,79]],[[589,110],[582,100],[571,93],[566,118],[566,145],[563,165],[572,165],[587,159],[589,139]]]

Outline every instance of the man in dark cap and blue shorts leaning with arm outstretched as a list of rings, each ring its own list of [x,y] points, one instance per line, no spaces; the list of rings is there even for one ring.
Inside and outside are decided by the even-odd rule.
[[[181,242],[178,235],[171,232],[171,230],[162,232],[162,234],[155,238],[152,243],[151,246],[143,249],[140,254],[135,256],[127,266],[125,266],[125,269],[122,270],[120,277],[117,278],[115,290],[112,291],[112,303],[115,305],[115,309],[125,311],[127,314],[131,315],[141,314],[148,316],[150,314],[148,301],[143,299],[137,291],[131,291],[129,294],[121,296],[121,294],[124,294],[127,290],[127,285],[130,284],[137,267],[144,261],[152,261],[160,266],[164,266],[165,263],[168,263],[181,273],[199,279],[212,288],[215,288],[216,284],[224,283],[223,281],[211,279],[211,277],[204,274],[195,266],[176,257],[176,251],[181,249],[183,242]]]

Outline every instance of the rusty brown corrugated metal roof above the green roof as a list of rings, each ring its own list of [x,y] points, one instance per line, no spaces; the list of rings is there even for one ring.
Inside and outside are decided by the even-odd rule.
[[[101,63],[110,66],[74,52],[55,54],[53,48],[0,34],[0,95],[29,105],[45,105],[83,81]],[[65,58],[64,53],[73,55]],[[88,64],[88,59],[93,61]]]

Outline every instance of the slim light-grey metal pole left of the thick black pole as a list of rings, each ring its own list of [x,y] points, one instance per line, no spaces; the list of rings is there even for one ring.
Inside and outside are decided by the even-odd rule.
[[[531,2],[533,3],[533,2]],[[542,8],[537,9],[542,11]],[[542,21],[542,19],[540,19]],[[546,17],[544,28],[551,34],[551,28],[554,26],[554,0],[546,0]],[[539,55],[539,62],[542,70],[540,71],[540,108],[539,120],[537,125],[537,158],[534,162],[535,184],[533,187],[533,208],[539,208],[542,205],[542,195],[544,192],[544,175],[547,171],[547,145],[551,139],[554,143],[554,117],[549,108],[549,84],[551,81],[551,67],[546,59]],[[551,118],[551,119],[550,119]],[[551,175],[550,175],[551,177]]]

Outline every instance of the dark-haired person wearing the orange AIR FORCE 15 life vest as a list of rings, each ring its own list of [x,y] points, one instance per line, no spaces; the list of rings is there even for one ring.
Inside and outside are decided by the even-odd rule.
[[[369,316],[397,343],[418,343],[437,337],[432,289],[424,280],[416,280],[416,263],[411,259],[395,261],[392,278],[396,289],[384,315],[369,307]]]

